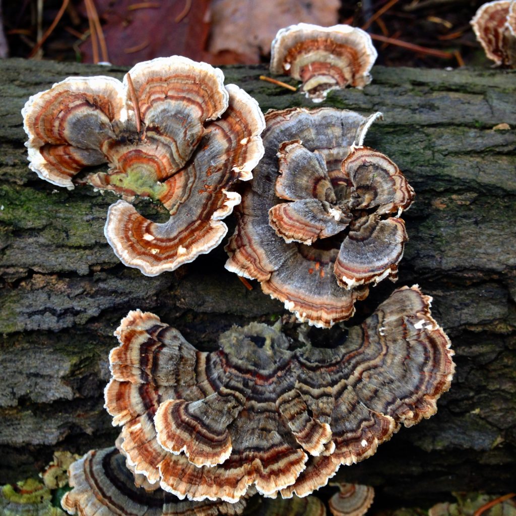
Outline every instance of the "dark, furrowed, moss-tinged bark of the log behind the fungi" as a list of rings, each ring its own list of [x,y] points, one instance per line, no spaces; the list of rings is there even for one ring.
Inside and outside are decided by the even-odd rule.
[[[69,75],[123,72],[0,61],[0,482],[34,473],[53,449],[112,444],[102,391],[112,333],[129,309],[155,312],[205,347],[233,324],[284,313],[257,284],[247,291],[225,271],[222,246],[156,278],[123,267],[103,235],[116,197],[60,189],[28,169],[20,115],[28,96]],[[261,82],[263,68],[224,72],[264,110],[311,106]],[[507,491],[516,477],[516,73],[377,67],[373,75],[364,90],[332,92],[324,105],[384,113],[366,144],[389,155],[417,193],[404,215],[410,241],[398,285],[433,296],[457,374],[436,416],[338,476],[404,504],[451,490]],[[501,123],[512,128],[493,129]],[[392,291],[386,283],[356,319]],[[332,331],[314,337],[331,340]]]

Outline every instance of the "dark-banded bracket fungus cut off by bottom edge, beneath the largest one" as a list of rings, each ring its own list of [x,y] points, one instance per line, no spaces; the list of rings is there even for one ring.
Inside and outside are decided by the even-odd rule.
[[[241,514],[245,508],[243,500],[191,502],[161,489],[146,492],[134,485],[124,462],[114,447],[88,451],[70,466],[73,489],[62,497],[63,509],[80,516],[217,516]]]

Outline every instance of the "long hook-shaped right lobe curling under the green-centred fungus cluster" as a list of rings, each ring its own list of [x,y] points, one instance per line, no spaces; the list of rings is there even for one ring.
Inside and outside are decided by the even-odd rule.
[[[158,198],[170,220],[152,222],[125,201],[109,208],[104,230],[109,244],[124,264],[147,276],[174,270],[220,244],[228,231],[220,219],[240,202],[230,188],[237,179],[250,179],[263,155],[258,104],[237,86],[227,89],[229,107],[207,125],[202,149],[162,185]]]

